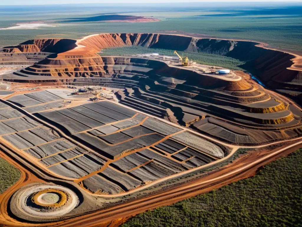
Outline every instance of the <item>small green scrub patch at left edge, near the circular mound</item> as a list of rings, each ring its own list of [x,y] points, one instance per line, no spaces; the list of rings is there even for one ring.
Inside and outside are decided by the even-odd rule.
[[[16,167],[0,158],[0,194],[14,185],[20,177],[21,173]]]

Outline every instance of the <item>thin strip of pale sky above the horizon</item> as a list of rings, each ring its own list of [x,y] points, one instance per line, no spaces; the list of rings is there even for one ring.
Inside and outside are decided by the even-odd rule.
[[[83,3],[169,3],[169,2],[245,2],[244,0],[0,0],[0,5],[47,5]],[[302,0],[249,0],[248,2],[302,2]]]

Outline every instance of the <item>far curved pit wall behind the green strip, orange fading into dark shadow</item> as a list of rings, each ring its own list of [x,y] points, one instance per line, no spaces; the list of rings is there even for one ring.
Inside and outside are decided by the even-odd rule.
[[[164,48],[225,55],[240,61],[246,61],[247,63],[240,67],[252,73],[268,87],[273,89],[282,89],[284,87],[302,89],[302,85],[283,83],[299,77],[298,71],[287,69],[293,64],[291,60],[294,56],[281,51],[257,47],[255,46],[258,44],[256,42],[199,39],[178,35],[124,33],[96,35],[85,39],[80,44],[88,44],[99,50],[110,47],[140,45],[146,48]]]

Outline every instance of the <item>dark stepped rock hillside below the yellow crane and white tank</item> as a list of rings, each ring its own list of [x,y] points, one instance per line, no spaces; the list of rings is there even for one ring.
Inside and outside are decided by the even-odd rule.
[[[104,57],[103,62],[105,75],[110,77],[89,81],[126,88],[117,92],[121,103],[183,125],[207,114],[259,127],[292,126],[300,119],[288,110],[287,103],[250,81],[225,81],[148,59]],[[84,85],[85,80],[71,84]]]

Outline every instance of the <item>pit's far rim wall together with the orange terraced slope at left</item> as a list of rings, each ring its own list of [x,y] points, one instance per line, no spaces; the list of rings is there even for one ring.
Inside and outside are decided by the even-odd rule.
[[[39,66],[42,65],[39,62],[34,67],[26,69],[39,75],[56,77],[104,76],[102,61],[97,54],[104,48],[139,45],[146,48],[220,54],[246,61],[246,64],[241,67],[258,77],[268,87],[279,89],[291,97],[302,97],[299,92],[302,90],[301,58],[295,58],[294,55],[281,51],[258,47],[257,44],[249,41],[192,38],[180,35],[122,33],[90,35],[78,41],[33,39],[16,46],[5,47],[3,52],[56,53],[56,56],[50,58],[58,61],[43,61],[43,65],[47,64],[47,66]],[[87,60],[88,58],[91,59]],[[73,61],[68,61],[68,59],[73,59]],[[41,71],[40,68],[45,68],[45,70]]]

